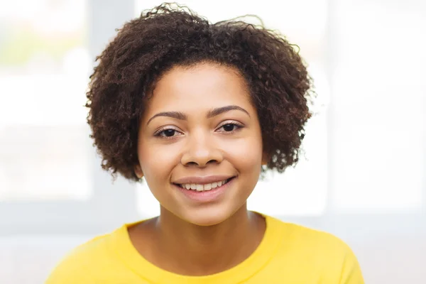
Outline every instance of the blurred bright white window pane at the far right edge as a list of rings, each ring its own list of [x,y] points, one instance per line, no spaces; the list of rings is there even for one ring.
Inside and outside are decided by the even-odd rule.
[[[338,3],[334,206],[362,212],[420,207],[426,18],[397,2]]]

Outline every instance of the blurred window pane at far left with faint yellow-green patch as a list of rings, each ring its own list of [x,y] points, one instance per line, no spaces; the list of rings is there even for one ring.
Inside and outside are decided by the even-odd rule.
[[[86,199],[85,1],[9,1],[0,16],[0,200]]]

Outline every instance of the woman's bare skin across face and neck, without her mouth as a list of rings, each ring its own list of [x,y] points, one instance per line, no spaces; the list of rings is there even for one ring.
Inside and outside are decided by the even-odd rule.
[[[241,109],[208,115],[229,106]],[[170,111],[185,118],[158,115]],[[135,173],[160,202],[160,216],[129,229],[139,253],[182,275],[218,273],[244,261],[266,226],[246,207],[265,159],[244,78],[232,67],[209,62],[175,66],[155,85],[140,125]],[[236,178],[212,202],[191,200],[173,185],[206,175]]]

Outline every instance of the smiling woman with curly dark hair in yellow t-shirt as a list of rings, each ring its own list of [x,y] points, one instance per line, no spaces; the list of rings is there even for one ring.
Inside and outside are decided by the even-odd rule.
[[[282,36],[163,4],[97,58],[88,123],[102,168],[146,180],[160,216],[72,251],[55,283],[364,283],[336,237],[251,212],[297,163],[312,84]]]

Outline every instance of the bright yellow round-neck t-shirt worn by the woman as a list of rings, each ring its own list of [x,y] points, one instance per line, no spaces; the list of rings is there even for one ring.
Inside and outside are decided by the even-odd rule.
[[[133,247],[127,224],[72,251],[46,284],[362,284],[359,264],[343,241],[266,217],[261,244],[238,266],[207,276],[164,271]]]

